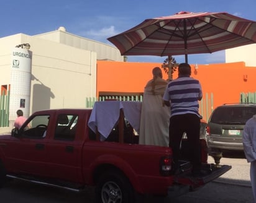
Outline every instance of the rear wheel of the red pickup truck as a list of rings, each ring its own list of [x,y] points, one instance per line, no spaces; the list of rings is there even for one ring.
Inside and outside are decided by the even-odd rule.
[[[99,177],[96,184],[96,202],[134,203],[134,189],[124,175],[108,171]]]

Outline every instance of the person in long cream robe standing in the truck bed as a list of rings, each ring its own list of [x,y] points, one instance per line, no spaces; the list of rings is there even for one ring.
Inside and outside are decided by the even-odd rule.
[[[169,146],[170,108],[163,103],[167,80],[160,67],[153,68],[153,79],[144,89],[140,114],[139,144]]]

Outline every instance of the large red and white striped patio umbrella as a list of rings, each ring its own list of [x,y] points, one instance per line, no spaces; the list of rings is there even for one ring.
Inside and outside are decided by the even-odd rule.
[[[173,56],[213,53],[256,43],[256,22],[226,12],[178,12],[146,19],[107,38],[122,55]]]

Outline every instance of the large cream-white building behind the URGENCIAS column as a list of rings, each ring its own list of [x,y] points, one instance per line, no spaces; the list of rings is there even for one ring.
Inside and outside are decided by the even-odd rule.
[[[114,46],[73,35],[64,27],[34,36],[19,33],[2,37],[1,90],[12,91],[12,55],[17,45],[25,43],[29,43],[32,53],[30,102],[27,102],[30,105],[24,112],[26,117],[49,108],[85,108],[86,98],[96,97],[96,60],[124,61]],[[17,106],[20,107],[22,109]],[[9,111],[9,126],[12,126],[17,109]]]

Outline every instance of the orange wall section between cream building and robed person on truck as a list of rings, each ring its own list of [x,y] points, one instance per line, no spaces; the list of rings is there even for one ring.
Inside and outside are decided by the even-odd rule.
[[[160,64],[98,61],[97,92],[144,92],[155,66]]]

